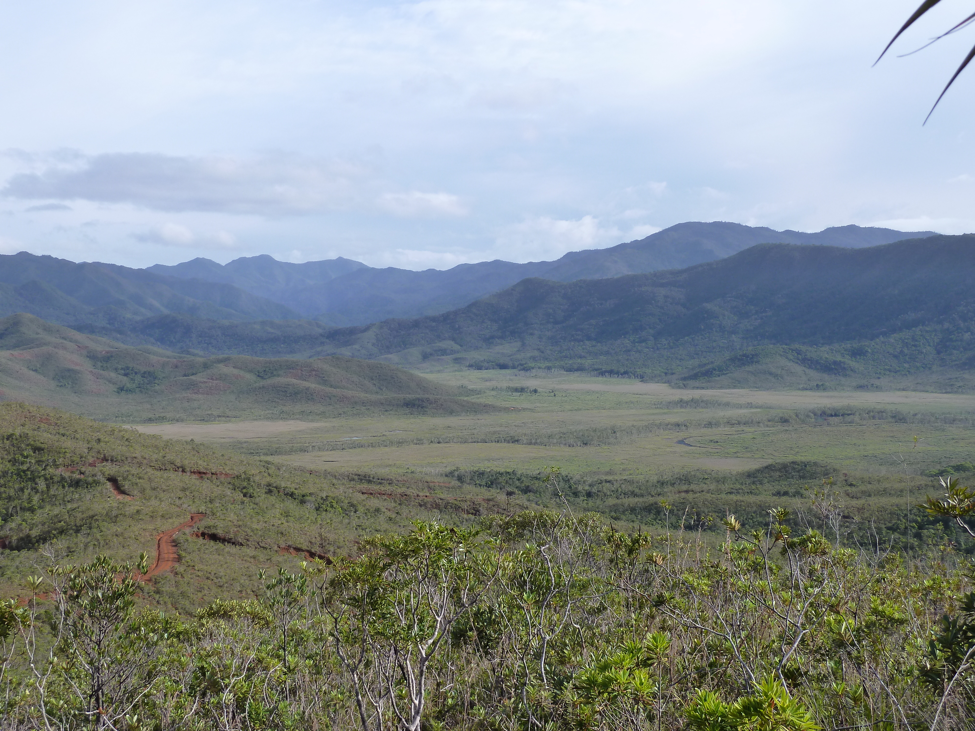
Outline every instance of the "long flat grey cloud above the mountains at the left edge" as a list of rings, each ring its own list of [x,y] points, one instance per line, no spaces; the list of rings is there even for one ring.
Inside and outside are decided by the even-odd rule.
[[[0,195],[131,204],[155,211],[288,215],[347,208],[372,173],[360,161],[289,154],[79,154],[64,164],[13,175]]]

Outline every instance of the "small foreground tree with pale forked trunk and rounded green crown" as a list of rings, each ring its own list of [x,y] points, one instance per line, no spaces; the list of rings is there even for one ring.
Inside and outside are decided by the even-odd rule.
[[[339,567],[326,596],[332,641],[352,676],[364,731],[367,700],[377,727],[388,704],[400,728],[419,730],[432,661],[498,572],[494,544],[479,542],[476,529],[414,526],[407,535],[367,541],[365,556]]]

